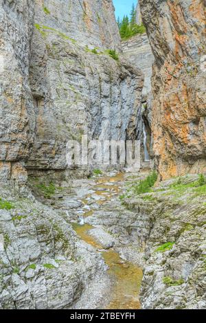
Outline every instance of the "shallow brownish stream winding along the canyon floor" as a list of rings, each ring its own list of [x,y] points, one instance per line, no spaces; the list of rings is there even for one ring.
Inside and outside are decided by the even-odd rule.
[[[111,198],[119,199],[119,193],[121,191],[121,183],[124,182],[124,174],[119,173],[113,177],[100,177],[95,179],[95,185],[93,191],[99,197],[97,203],[100,206],[100,210],[104,209],[104,203],[108,203]],[[81,199],[84,205],[87,205],[88,200],[91,198],[91,194],[87,194]],[[139,290],[141,287],[142,271],[137,265],[128,263],[120,258],[119,254],[115,251],[114,247],[110,249],[104,249],[104,247],[95,240],[89,232],[94,228],[93,225],[84,223],[88,216],[93,214],[94,210],[91,205],[91,209],[85,211],[81,215],[79,223],[73,223],[73,230],[76,231],[78,236],[92,245],[97,252],[101,252],[102,257],[106,265],[108,265],[108,275],[113,280],[113,290],[111,293],[111,300],[106,305],[105,309],[140,309],[139,302]]]

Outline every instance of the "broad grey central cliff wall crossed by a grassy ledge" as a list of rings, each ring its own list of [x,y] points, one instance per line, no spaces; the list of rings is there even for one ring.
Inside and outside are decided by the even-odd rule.
[[[137,133],[141,72],[120,56],[112,1],[36,3],[30,84],[36,132],[27,168],[65,170],[68,140]],[[129,96],[127,95],[129,93]]]

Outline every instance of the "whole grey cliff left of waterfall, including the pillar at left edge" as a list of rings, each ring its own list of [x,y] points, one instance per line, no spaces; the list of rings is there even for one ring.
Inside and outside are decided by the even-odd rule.
[[[121,51],[111,0],[3,1],[1,34],[3,179],[65,170],[83,133],[137,137],[143,76],[109,52]]]

